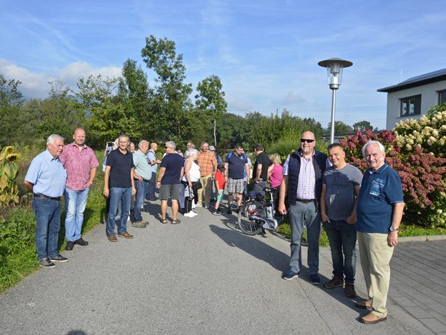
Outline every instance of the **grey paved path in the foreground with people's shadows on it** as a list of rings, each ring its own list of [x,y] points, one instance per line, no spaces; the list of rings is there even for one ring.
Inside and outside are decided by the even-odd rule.
[[[362,325],[364,311],[340,288],[311,285],[306,268],[296,280],[280,278],[289,261],[282,238],[245,236],[234,215],[204,208],[178,225],[144,215],[150,225],[130,227],[134,239],[110,243],[100,225],[87,247],[62,252],[69,262],[0,295],[0,334],[446,334],[445,241],[398,246],[389,318]],[[320,274],[331,278],[329,248]]]

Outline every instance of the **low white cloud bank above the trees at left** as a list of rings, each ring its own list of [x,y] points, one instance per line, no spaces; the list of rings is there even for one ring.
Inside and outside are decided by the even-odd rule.
[[[48,96],[50,90],[48,82],[55,78],[60,78],[64,85],[75,89],[78,78],[81,76],[88,77],[101,74],[103,78],[119,77],[121,76],[121,68],[117,66],[94,68],[85,62],[73,62],[55,73],[35,73],[17,66],[17,64],[7,59],[0,59],[0,73],[6,79],[20,80],[22,82],[20,91],[24,97],[43,99]]]

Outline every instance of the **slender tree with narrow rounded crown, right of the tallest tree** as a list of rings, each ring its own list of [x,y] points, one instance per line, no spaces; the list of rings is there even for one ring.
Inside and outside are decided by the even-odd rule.
[[[214,145],[217,145],[217,122],[226,113],[228,104],[224,100],[222,82],[215,75],[209,76],[196,86],[195,96],[198,111],[213,129]]]

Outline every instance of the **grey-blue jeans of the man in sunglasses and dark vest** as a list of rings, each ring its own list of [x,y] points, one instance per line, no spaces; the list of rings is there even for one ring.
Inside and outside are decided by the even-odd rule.
[[[296,201],[289,206],[289,221],[291,226],[291,259],[289,268],[298,273],[302,266],[301,238],[303,225],[307,227],[308,238],[308,274],[319,272],[319,236],[321,233],[321,215],[317,211],[315,201],[306,204]]]

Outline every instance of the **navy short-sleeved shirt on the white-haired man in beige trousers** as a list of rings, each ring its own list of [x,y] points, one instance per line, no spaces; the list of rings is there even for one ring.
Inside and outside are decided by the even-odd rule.
[[[357,231],[388,234],[392,204],[403,202],[403,187],[398,173],[388,164],[368,169],[361,183],[357,202]]]

